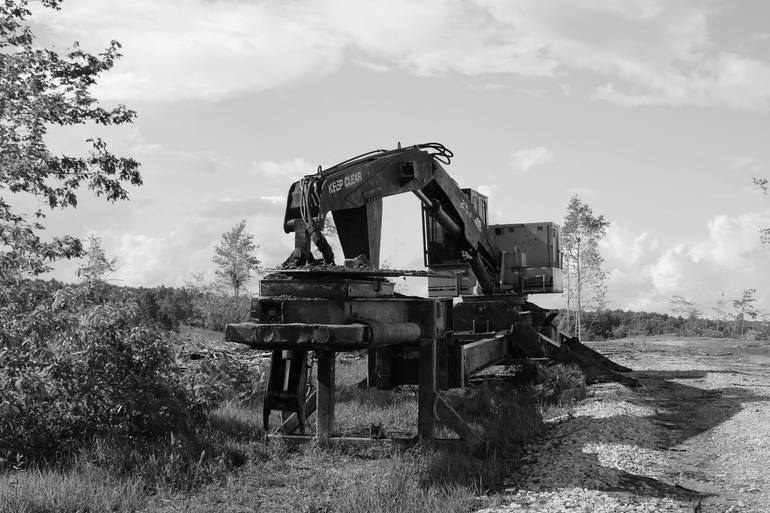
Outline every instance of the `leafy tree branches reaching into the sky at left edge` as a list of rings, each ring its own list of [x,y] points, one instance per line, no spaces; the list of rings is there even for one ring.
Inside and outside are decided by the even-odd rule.
[[[61,0],[41,0],[60,9]],[[100,138],[87,139],[87,155],[54,155],[47,127],[130,123],[136,113],[124,105],[106,109],[91,95],[98,76],[120,57],[120,44],[90,54],[74,43],[59,53],[40,48],[26,24],[29,0],[0,2],[0,191],[31,195],[50,209],[76,207],[86,185],[108,201],[127,199],[125,184],[141,185],[139,163],[117,157]],[[31,218],[30,218],[31,217]],[[0,197],[0,276],[37,275],[49,262],[83,254],[72,236],[41,238],[42,209],[18,212]]]

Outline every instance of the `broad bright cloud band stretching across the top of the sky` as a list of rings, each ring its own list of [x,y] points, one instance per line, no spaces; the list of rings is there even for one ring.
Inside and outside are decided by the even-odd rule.
[[[719,14],[698,0],[83,0],[40,23],[55,41],[124,44],[99,85],[108,98],[216,100],[349,59],[377,72],[558,83],[587,71],[593,97],[621,105],[767,108],[770,65],[719,48],[709,31]]]

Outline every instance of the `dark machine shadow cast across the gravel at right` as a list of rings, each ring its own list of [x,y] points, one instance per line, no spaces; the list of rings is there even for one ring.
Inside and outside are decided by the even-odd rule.
[[[535,475],[534,484],[533,476],[529,474],[525,483],[519,483],[520,488],[543,490],[582,486],[679,500],[709,496],[708,493],[677,484],[674,475],[683,470],[677,460],[682,454],[680,451],[684,450],[671,449],[725,422],[744,408],[745,403],[770,399],[741,387],[706,390],[676,381],[705,378],[709,372],[719,371],[634,373],[642,387],[620,387],[618,394],[626,403],[653,411],[654,414],[577,416],[552,426],[543,440],[533,448],[532,460],[540,461],[540,465],[532,468],[542,467],[542,458],[545,457],[548,466],[555,466],[561,471],[555,478],[546,472],[542,479]],[[576,441],[572,435],[579,432],[591,433],[591,438]],[[640,437],[640,433],[648,435]],[[606,457],[599,456],[600,452],[606,454],[607,451],[636,451],[632,454],[639,458],[645,454],[667,452],[664,455],[667,458],[664,467],[667,468],[655,476],[644,475],[641,468],[634,468],[634,461],[629,463],[628,458],[619,458],[624,463],[613,465]]]

